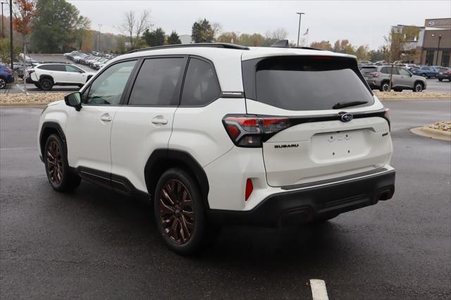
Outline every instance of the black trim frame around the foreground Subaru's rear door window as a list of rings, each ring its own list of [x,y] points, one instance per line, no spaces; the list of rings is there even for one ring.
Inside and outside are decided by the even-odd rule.
[[[183,77],[182,77],[182,85],[180,87],[180,92],[178,94],[178,104],[176,105],[149,105],[149,104],[129,104],[130,102],[130,96],[132,94],[132,88],[135,85],[135,81],[137,79],[137,75],[140,73],[141,67],[144,64],[144,61],[147,59],[155,59],[155,58],[185,58],[185,70],[183,70]],[[182,91],[183,91],[183,83],[185,82],[185,75],[187,70],[187,65],[189,61],[189,56],[185,54],[168,54],[168,55],[154,55],[154,56],[140,56],[140,61],[137,63],[137,68],[132,72],[132,76],[128,82],[128,86],[125,88],[125,97],[123,101],[124,106],[131,106],[131,107],[178,107],[180,106],[180,99],[182,99]]]

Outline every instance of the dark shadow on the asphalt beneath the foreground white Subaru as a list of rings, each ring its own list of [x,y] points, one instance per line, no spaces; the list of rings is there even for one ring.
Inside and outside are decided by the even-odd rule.
[[[126,227],[126,232],[132,232],[137,240],[147,240],[146,252],[166,252],[167,256],[179,257],[166,249],[160,240],[154,223],[152,201],[149,199],[123,196],[85,181],[68,196],[72,203],[75,200],[85,207],[83,213],[94,213],[104,219],[110,230],[123,232],[123,227]],[[321,225],[280,228],[228,225],[222,228],[216,241],[201,254],[187,259],[193,263],[246,263],[248,267],[254,265],[256,268],[266,264],[276,268],[293,263],[311,265],[343,251],[342,247],[347,241],[337,237],[336,233],[340,231],[340,225],[334,220]],[[91,234],[95,236],[95,232]],[[104,238],[102,232],[97,238]],[[121,236],[114,239],[121,239]]]

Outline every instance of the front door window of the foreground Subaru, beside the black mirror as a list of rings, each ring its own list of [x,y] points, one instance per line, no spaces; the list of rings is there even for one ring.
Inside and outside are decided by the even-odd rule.
[[[83,104],[118,105],[136,61],[124,61],[111,65],[89,87]]]

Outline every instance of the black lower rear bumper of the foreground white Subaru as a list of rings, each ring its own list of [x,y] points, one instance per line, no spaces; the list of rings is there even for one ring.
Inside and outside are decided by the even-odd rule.
[[[211,209],[209,220],[220,224],[277,227],[307,223],[322,216],[353,211],[388,200],[395,192],[395,170],[315,182],[266,197],[251,211]]]

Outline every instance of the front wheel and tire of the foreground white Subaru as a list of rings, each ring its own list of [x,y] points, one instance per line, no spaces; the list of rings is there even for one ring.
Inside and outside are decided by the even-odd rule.
[[[80,185],[81,179],[71,172],[59,135],[47,138],[44,146],[44,164],[47,179],[58,192],[70,192]]]

